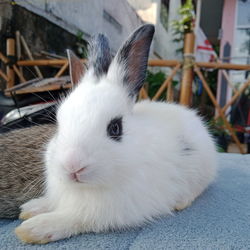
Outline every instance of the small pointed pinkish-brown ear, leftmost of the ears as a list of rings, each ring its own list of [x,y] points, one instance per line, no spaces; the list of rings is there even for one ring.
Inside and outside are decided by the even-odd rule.
[[[72,84],[80,82],[84,73],[84,64],[81,60],[69,49],[67,49],[67,55],[69,60],[69,72]]]

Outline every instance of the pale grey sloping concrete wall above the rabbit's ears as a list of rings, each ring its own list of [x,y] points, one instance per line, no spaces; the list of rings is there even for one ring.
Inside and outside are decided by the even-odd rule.
[[[124,0],[25,0],[17,3],[73,34],[84,32],[87,40],[93,34],[104,33],[113,51],[142,24]]]

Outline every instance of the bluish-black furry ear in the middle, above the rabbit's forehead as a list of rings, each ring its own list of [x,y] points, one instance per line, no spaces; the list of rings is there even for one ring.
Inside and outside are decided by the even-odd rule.
[[[89,43],[88,51],[89,69],[93,69],[96,77],[106,74],[112,60],[108,38],[103,34],[94,36]]]

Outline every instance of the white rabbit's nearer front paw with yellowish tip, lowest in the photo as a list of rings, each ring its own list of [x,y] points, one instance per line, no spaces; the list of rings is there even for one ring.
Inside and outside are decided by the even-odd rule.
[[[67,237],[64,225],[55,213],[37,215],[15,229],[17,237],[25,243],[46,244]]]

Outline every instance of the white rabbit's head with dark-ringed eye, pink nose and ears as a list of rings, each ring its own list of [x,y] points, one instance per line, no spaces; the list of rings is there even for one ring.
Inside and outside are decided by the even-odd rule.
[[[94,37],[85,74],[82,62],[68,51],[77,87],[58,109],[57,133],[48,146],[55,175],[91,186],[110,185],[129,175],[139,133],[133,105],[145,80],[153,34],[153,25],[141,26],[113,60],[107,38]]]

